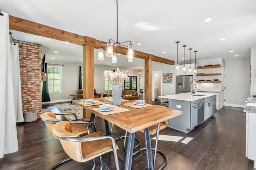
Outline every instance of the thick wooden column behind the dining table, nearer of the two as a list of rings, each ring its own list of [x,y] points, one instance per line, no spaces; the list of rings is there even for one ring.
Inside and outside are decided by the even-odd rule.
[[[85,37],[84,47],[84,84],[83,84],[83,99],[94,98],[94,45],[95,39]],[[83,119],[90,120],[91,113],[84,109]]]

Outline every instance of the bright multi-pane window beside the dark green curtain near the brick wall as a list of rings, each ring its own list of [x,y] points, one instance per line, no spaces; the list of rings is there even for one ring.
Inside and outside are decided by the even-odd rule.
[[[61,66],[48,65],[47,76],[49,92],[61,92]]]

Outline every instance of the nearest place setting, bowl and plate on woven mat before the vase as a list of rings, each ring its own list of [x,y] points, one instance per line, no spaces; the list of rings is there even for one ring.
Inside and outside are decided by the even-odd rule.
[[[111,115],[115,113],[121,113],[124,111],[129,111],[129,109],[118,107],[112,104],[102,104],[98,108],[93,108],[94,111],[97,111],[103,115]]]

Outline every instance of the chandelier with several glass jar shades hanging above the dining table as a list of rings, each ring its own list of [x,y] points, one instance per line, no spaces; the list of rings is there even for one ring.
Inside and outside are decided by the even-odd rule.
[[[128,46],[127,45],[122,45],[124,43],[130,43]],[[113,39],[109,39],[107,44],[102,44],[102,45],[106,45],[106,56],[107,57],[114,57],[114,59],[112,59],[112,63],[113,61],[116,63],[117,59],[116,59],[116,55],[114,56],[114,51],[116,47],[127,47],[127,57],[128,57],[128,62],[133,62],[133,57],[134,57],[134,49],[133,49],[133,45],[131,41],[125,41],[122,43],[118,42],[118,0],[116,0],[116,41],[114,41]],[[100,45],[100,48],[98,49],[98,60],[103,61],[104,60],[104,55],[103,55],[103,49],[102,49],[102,45]],[[114,49],[113,49],[113,45],[114,45]]]

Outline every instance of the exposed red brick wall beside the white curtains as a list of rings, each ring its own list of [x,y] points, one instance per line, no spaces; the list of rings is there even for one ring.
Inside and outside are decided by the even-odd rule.
[[[42,76],[41,45],[17,41],[20,52],[20,79],[23,113],[29,109],[37,111],[40,117],[42,110]]]

